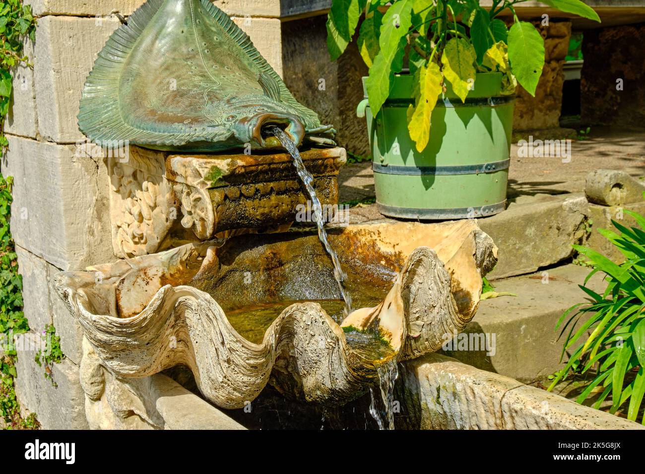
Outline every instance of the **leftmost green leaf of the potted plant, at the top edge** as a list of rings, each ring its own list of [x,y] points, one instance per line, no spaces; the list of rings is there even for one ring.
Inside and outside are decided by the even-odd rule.
[[[327,49],[332,61],[339,58],[359,24],[367,0],[332,0],[327,14]]]

